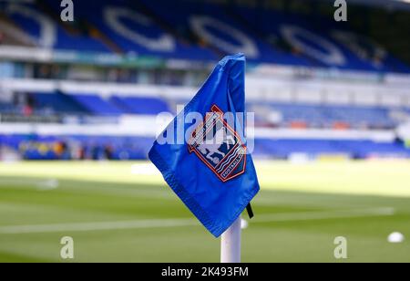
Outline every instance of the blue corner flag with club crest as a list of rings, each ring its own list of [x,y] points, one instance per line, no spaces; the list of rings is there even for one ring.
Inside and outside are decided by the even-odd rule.
[[[243,55],[223,58],[149,151],[174,193],[216,237],[259,192],[243,134],[244,78]]]

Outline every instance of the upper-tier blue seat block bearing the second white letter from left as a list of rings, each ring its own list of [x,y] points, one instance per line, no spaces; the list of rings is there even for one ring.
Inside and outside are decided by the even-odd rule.
[[[118,14],[123,15],[118,16],[114,24],[109,23],[107,14],[114,13],[113,11],[116,10]],[[209,49],[190,44],[188,41],[181,42],[172,36],[154,19],[144,15],[137,3],[120,1],[115,5],[113,3],[108,5],[108,2],[104,4],[101,1],[81,1],[77,4],[77,11],[79,16],[87,18],[125,52],[171,58],[217,59]],[[88,11],[94,11],[94,13],[90,14]],[[141,20],[140,23],[138,19]]]

